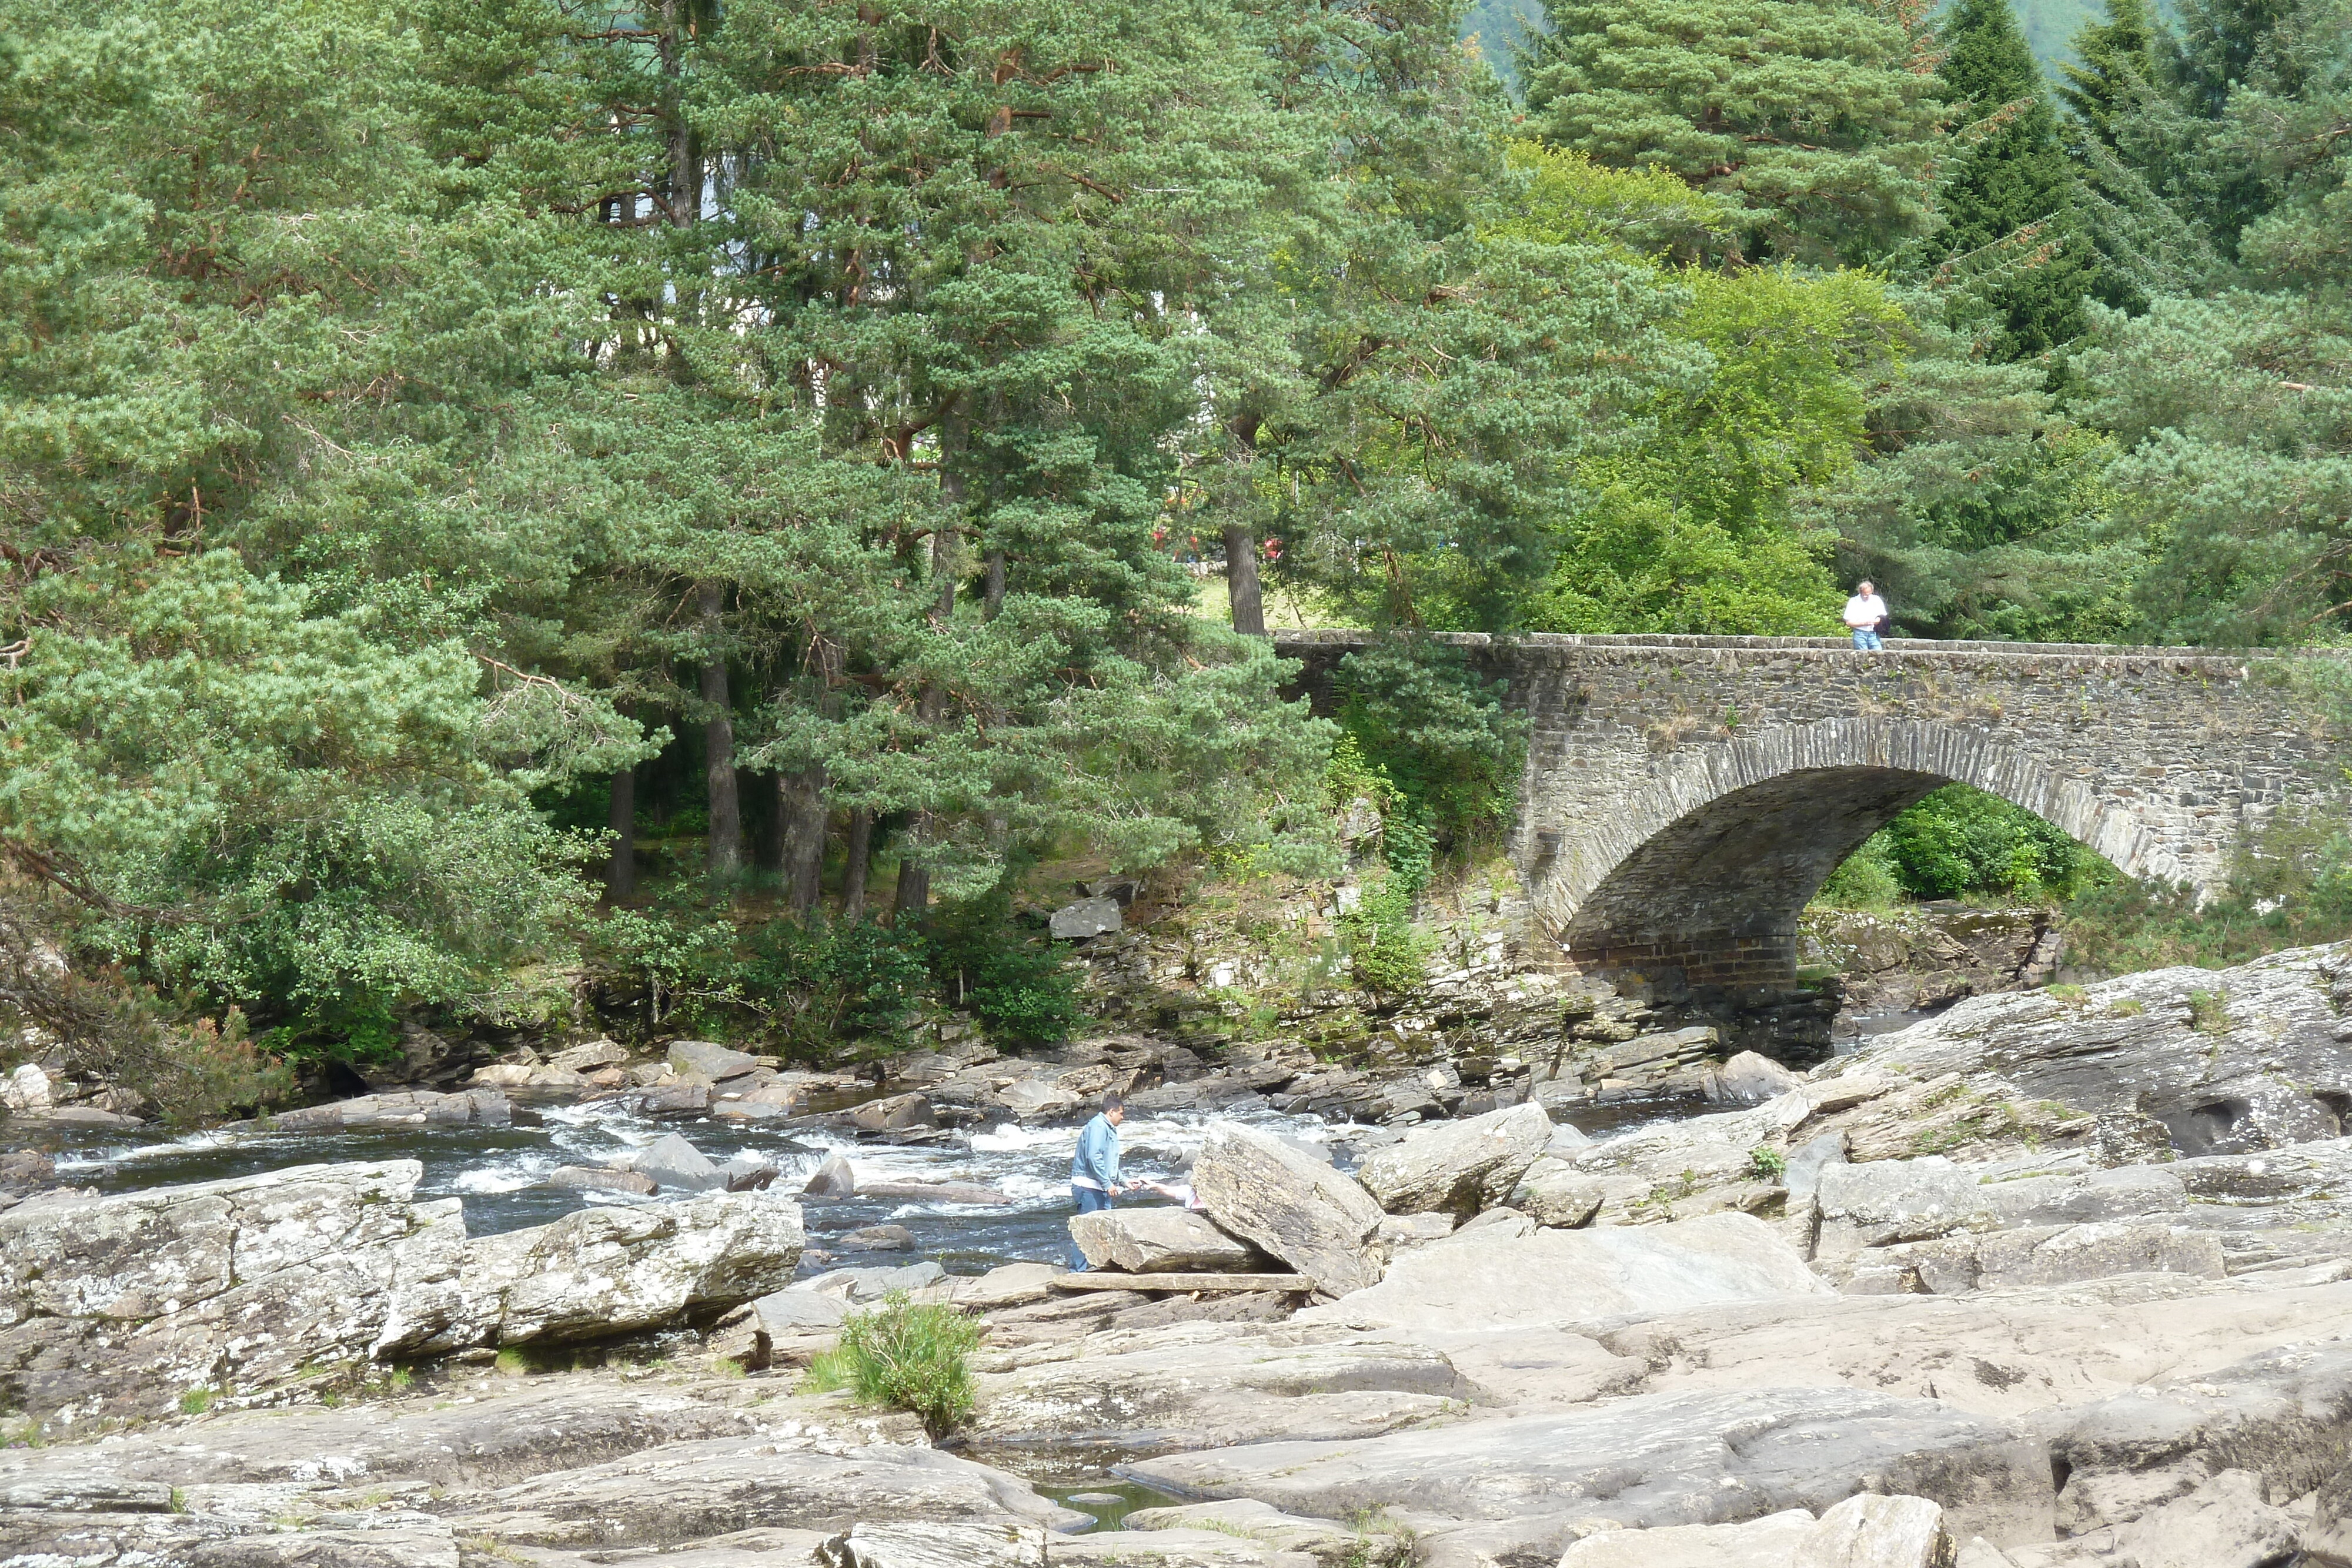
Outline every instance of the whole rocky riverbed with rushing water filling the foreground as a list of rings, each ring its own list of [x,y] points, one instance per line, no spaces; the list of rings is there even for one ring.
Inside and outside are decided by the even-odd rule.
[[[2352,1561],[2352,947],[1806,1074],[1517,985],[1508,1051],[1411,1079],[1138,1032],[858,1086],[517,1060],[198,1143],[28,1107],[0,1559]],[[1091,1220],[1073,1279],[1110,1086],[1197,1206]],[[395,1152],[437,1138],[506,1143]],[[891,1293],[983,1328],[955,1432],[802,1389]]]

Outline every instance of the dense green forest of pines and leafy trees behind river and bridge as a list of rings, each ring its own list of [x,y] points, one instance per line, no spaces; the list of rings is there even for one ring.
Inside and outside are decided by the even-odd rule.
[[[1049,1037],[1023,865],[1491,842],[1423,630],[2336,639],[2347,21],[0,0],[0,1001]]]

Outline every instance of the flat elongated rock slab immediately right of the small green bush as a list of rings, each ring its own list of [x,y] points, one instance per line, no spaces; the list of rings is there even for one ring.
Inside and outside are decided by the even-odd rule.
[[[971,1436],[1089,1448],[1216,1448],[1263,1436],[1376,1436],[1458,1413],[1444,1354],[1338,1326],[1171,1324],[974,1356]]]

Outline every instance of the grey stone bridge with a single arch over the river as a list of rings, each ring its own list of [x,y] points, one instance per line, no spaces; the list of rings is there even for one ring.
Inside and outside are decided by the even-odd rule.
[[[1329,710],[1364,632],[1277,632]],[[1795,976],[1797,914],[1945,783],[2199,891],[2288,795],[2321,788],[2286,656],[2020,642],[1456,635],[1529,748],[1512,856],[1583,973],[1691,987]]]

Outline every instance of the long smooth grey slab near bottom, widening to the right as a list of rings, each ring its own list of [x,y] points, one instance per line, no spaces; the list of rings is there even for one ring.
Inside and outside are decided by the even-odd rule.
[[[2046,1540],[2049,1448],[2009,1422],[1863,1389],[1621,1399],[1592,1410],[1395,1432],[1355,1443],[1249,1443],[1124,1467],[1178,1495],[1256,1497],[1345,1519],[1395,1507],[1512,1521],[1564,1549],[1573,1519],[1738,1523],[1828,1509],[1875,1486],[1929,1497],[1955,1533]],[[1550,1521],[1550,1523],[1548,1523]]]

